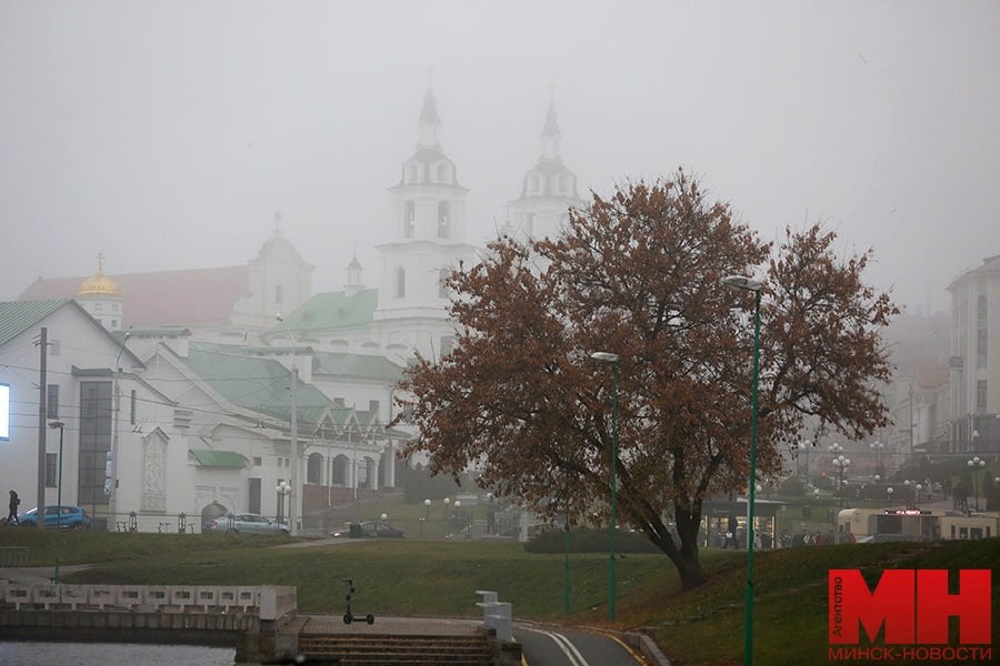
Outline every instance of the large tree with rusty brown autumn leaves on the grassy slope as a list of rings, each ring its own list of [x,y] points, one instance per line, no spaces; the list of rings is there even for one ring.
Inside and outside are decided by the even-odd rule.
[[[886,424],[879,333],[898,311],[863,283],[869,254],[841,259],[834,238],[817,225],[762,242],[679,171],[594,195],[558,238],[498,240],[449,280],[453,349],[402,383],[419,427],[402,454],[428,453],[438,473],[472,466],[543,515],[607,512],[614,369],[591,353],[617,354],[619,521],[684,587],[701,584],[702,503],[749,478],[754,299],[723,276],[764,282],[762,477],[806,424],[854,438]]]

